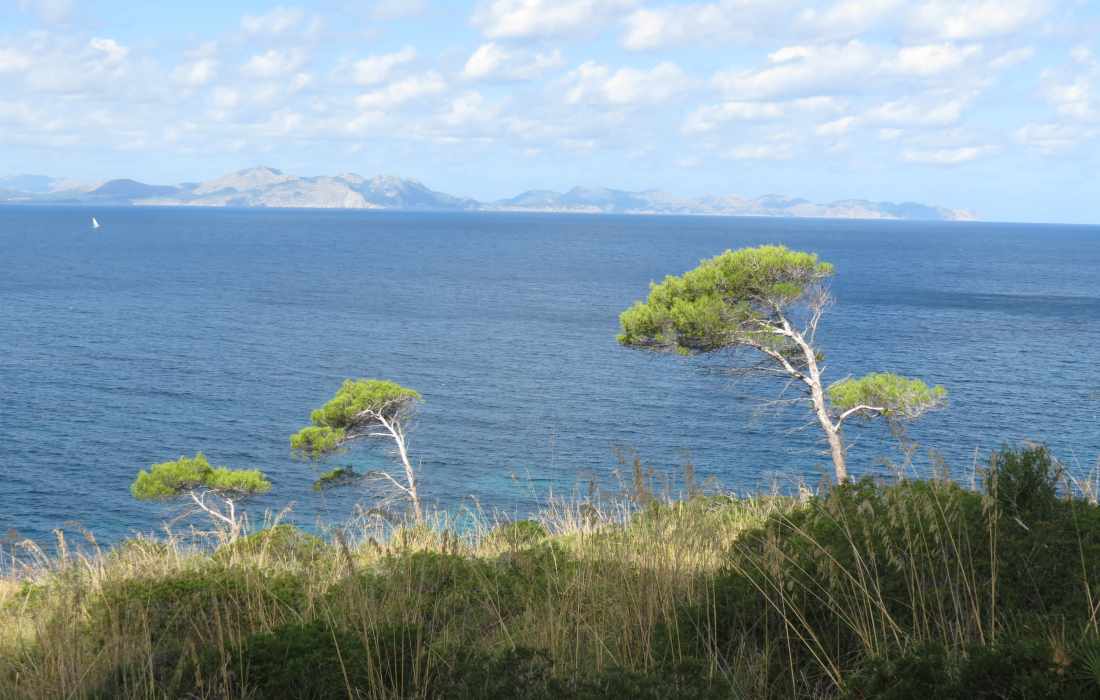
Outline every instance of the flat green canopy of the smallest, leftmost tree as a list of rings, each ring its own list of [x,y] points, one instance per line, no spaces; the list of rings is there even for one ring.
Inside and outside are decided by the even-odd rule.
[[[141,470],[130,492],[139,501],[164,501],[196,490],[251,495],[266,493],[271,488],[258,470],[211,467],[202,452],[198,452],[195,457],[153,464],[148,471]]]

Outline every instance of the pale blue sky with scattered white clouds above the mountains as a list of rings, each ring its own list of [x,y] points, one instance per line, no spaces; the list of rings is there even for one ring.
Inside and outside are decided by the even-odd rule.
[[[0,175],[1100,223],[1096,0],[0,0]]]

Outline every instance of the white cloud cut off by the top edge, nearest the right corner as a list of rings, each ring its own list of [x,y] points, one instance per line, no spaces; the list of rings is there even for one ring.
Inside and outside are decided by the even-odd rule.
[[[926,0],[913,9],[910,29],[944,39],[998,36],[1034,26],[1047,0]]]

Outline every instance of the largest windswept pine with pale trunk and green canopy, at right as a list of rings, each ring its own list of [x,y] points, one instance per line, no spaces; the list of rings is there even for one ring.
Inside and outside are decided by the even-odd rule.
[[[826,392],[823,354],[814,347],[831,302],[833,265],[814,253],[759,245],[704,260],[680,276],[653,283],[646,300],[619,315],[618,341],[630,348],[683,354],[752,348],[767,369],[801,386],[825,433],[837,481],[847,479],[840,428],[850,417],[882,416],[900,427],[944,404],[943,386],[876,373],[838,382]],[[778,367],[776,367],[778,365]]]

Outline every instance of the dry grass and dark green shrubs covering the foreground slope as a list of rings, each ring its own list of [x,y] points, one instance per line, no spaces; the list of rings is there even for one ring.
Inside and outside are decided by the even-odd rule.
[[[31,556],[0,579],[0,699],[1100,696],[1100,507],[1043,448],[976,490],[636,486]]]

